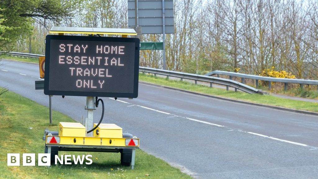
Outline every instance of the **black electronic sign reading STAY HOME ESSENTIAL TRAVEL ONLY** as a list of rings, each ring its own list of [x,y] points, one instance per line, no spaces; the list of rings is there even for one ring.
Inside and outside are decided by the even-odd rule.
[[[137,38],[47,35],[46,95],[138,96]]]

